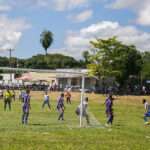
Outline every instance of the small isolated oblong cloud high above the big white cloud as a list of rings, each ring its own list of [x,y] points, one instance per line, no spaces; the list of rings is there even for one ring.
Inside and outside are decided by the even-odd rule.
[[[77,15],[71,15],[68,18],[71,19],[73,22],[84,22],[90,19],[93,15],[92,10],[85,10]]]

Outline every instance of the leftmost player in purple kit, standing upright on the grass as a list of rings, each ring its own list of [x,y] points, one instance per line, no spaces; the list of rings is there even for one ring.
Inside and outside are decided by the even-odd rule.
[[[27,89],[26,93],[24,94],[23,98],[23,105],[22,105],[22,124],[28,124],[29,118],[29,111],[31,109],[30,106],[30,90]]]

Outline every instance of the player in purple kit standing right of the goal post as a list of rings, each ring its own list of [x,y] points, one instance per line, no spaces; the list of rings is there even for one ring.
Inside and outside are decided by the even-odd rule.
[[[106,115],[107,115],[107,126],[109,124],[112,125],[113,119],[114,119],[114,114],[113,114],[113,98],[112,95],[109,95],[108,98],[105,101],[105,106],[106,106]]]

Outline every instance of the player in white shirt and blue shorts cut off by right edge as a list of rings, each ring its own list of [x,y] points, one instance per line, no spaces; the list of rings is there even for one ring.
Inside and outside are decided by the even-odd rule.
[[[143,99],[145,114],[144,114],[144,121],[145,124],[149,124],[148,118],[150,118],[150,105],[148,104],[146,99]]]

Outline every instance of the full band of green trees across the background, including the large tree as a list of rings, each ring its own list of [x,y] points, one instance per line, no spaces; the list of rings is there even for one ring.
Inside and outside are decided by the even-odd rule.
[[[140,52],[134,45],[125,45],[116,37],[91,41],[83,59],[62,54],[38,54],[27,59],[0,57],[1,67],[32,69],[88,68],[99,79],[114,77],[120,85],[150,80],[150,51]]]

